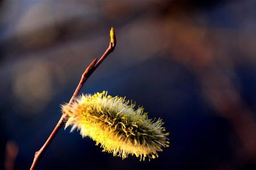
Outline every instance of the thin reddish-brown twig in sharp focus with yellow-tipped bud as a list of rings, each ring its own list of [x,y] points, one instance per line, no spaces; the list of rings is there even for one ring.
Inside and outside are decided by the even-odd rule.
[[[115,33],[114,33],[114,29],[111,28],[111,30],[110,30],[110,42],[109,42],[108,49],[106,49],[105,53],[101,56],[101,58],[98,60],[98,62],[97,62],[97,58],[96,58],[86,68],[86,70],[84,71],[84,74],[82,74],[81,80],[80,80],[79,84],[77,85],[77,88],[76,88],[73,96],[69,100],[69,104],[71,104],[75,100],[75,97],[79,94],[82,86],[85,84],[86,80],[88,80],[89,76],[92,75],[93,71],[97,69],[97,67],[101,64],[101,62],[104,61],[104,59],[111,52],[113,52],[113,50],[115,48],[115,45],[116,45]],[[40,148],[39,151],[35,152],[34,161],[33,161],[32,165],[30,167],[30,170],[33,170],[36,167],[36,165],[38,164],[40,158],[42,158],[43,153],[46,151],[47,147],[52,142],[52,140],[55,137],[55,135],[57,134],[57,132],[62,128],[62,126],[65,124],[65,122],[67,122],[67,120],[68,120],[67,114],[63,114],[60,117],[59,122],[57,123],[57,125],[53,129],[51,135],[49,135],[46,143],[44,143],[44,145],[42,146],[42,148]]]

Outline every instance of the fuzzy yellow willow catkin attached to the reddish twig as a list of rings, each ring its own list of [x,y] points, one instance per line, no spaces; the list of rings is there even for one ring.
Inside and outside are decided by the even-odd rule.
[[[142,107],[135,110],[132,101],[107,94],[82,95],[72,104],[62,105],[63,114],[69,116],[65,128],[72,125],[71,131],[77,128],[82,137],[100,144],[102,151],[122,159],[129,154],[140,160],[158,158],[157,152],[170,143],[162,120],[148,119]]]

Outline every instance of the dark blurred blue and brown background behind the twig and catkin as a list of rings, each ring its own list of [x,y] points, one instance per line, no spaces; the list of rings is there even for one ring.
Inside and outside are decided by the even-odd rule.
[[[122,160],[61,129],[38,169],[256,169],[256,1],[0,0],[0,169],[28,169],[81,74],[161,117],[171,147]]]

